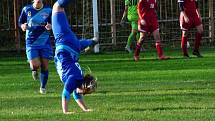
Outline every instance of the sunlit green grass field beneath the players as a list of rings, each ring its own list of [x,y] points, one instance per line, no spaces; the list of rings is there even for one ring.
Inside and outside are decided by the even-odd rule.
[[[97,92],[84,97],[93,112],[82,112],[74,100],[61,110],[62,83],[50,63],[46,95],[39,94],[25,57],[0,58],[0,121],[214,121],[215,52],[204,58],[156,60],[155,52],[134,62],[125,52],[82,55],[98,77]]]

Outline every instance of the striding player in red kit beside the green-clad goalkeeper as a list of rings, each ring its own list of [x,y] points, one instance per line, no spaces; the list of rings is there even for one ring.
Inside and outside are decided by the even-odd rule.
[[[156,0],[139,0],[138,3],[138,30],[140,31],[140,39],[138,40],[134,52],[134,60],[139,60],[140,49],[145,40],[147,33],[152,33],[156,41],[156,49],[158,58],[160,60],[169,59],[163,54],[161,48],[161,39],[159,33],[158,18],[156,14],[157,1]]]

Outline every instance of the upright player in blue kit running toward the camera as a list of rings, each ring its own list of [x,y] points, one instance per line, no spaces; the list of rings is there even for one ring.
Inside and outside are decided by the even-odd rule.
[[[26,55],[32,70],[34,80],[39,79],[40,93],[46,93],[48,81],[48,61],[53,58],[50,43],[51,8],[45,6],[42,0],[33,0],[33,4],[22,9],[19,17],[19,26],[26,32]]]

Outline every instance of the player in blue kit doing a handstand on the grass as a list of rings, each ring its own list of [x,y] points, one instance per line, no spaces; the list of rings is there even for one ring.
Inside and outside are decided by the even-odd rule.
[[[73,98],[83,111],[92,111],[85,105],[82,94],[92,93],[96,87],[94,77],[89,74],[84,76],[78,63],[80,51],[92,44],[93,41],[80,41],[71,31],[64,11],[64,7],[70,1],[72,0],[58,0],[55,2],[52,11],[52,29],[56,46],[55,64],[60,79],[64,83],[62,92],[64,114],[73,113],[68,111],[68,103],[72,93]]]

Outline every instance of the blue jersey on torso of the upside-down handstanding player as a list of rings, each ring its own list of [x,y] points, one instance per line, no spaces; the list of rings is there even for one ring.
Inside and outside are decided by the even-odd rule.
[[[70,93],[83,83],[83,72],[76,59],[68,51],[55,54],[55,65],[64,88]]]

